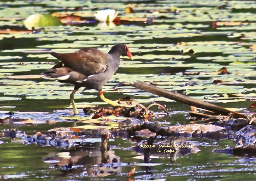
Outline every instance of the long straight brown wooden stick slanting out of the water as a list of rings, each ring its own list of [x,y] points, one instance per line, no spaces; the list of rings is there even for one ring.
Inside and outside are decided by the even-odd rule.
[[[162,89],[159,87],[156,87],[155,85],[150,85],[148,83],[144,83],[141,81],[137,81],[136,83],[132,83],[131,86],[136,87],[138,89],[150,92],[152,94],[156,94],[158,96],[162,96],[165,98],[169,98],[187,105],[193,105],[202,109],[206,109],[212,112],[215,112],[217,114],[222,115],[228,115],[228,113],[232,112],[234,114],[234,118],[247,118],[246,115],[240,114],[238,112],[230,111],[228,109],[225,109],[223,107],[220,107],[218,105],[213,105],[208,102],[199,101],[197,99],[190,98],[188,96],[185,96],[183,94],[179,94],[174,91],[167,91],[166,89]]]

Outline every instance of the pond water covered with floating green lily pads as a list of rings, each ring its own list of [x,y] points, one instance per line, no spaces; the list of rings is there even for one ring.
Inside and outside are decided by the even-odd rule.
[[[135,13],[125,14],[126,7]],[[171,116],[164,118],[166,125],[190,123],[188,105],[124,85],[140,80],[250,112],[247,107],[256,96],[256,49],[253,47],[256,1],[0,1],[0,30],[24,29],[22,20],[33,14],[79,13],[87,17],[102,8],[115,9],[119,12],[118,18],[148,20],[121,21],[115,26],[100,26],[93,21],[44,27],[38,33],[0,34],[1,131],[18,128],[33,135],[55,127],[82,125],[76,119],[68,119],[73,116],[69,107],[73,86],[38,75],[58,62],[50,51],[71,53],[79,48],[98,47],[108,52],[116,43],[128,45],[134,61],[122,57],[116,75],[103,87],[107,98],[117,100],[130,96],[146,106],[157,102],[166,105],[170,112]],[[227,74],[217,72],[222,67],[227,68]],[[199,74],[192,74],[197,72]],[[239,97],[230,94],[239,94]],[[107,106],[94,90],[82,92],[81,89],[75,94],[75,101],[80,107],[78,117],[86,116],[82,105]],[[159,112],[157,107],[151,109]],[[12,115],[6,114],[10,111]],[[16,122],[2,121],[9,116],[17,119]],[[161,117],[156,120],[163,121]],[[235,146],[231,140],[177,138],[178,144],[195,145],[193,153],[170,156],[151,151],[150,160],[144,163],[143,150],[135,148],[143,139],[116,137],[110,140],[109,156],[118,164],[100,168],[97,165],[101,159],[99,140],[90,143],[88,149],[77,150],[24,145],[20,139],[11,141],[1,137],[0,174],[2,180],[255,180],[254,157],[233,157],[212,151]],[[161,139],[170,142],[170,138]],[[63,167],[70,162],[72,171],[67,171]],[[128,177],[133,168],[135,173]]]

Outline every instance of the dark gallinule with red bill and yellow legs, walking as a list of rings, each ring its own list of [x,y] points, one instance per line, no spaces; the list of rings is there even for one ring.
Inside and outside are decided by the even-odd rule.
[[[51,52],[50,54],[59,59],[60,62],[54,65],[52,69],[42,72],[42,74],[55,78],[61,83],[75,85],[74,91],[69,96],[74,114],[78,114],[74,94],[80,87],[85,87],[85,90],[96,89],[103,101],[114,106],[119,105],[105,98],[101,89],[118,69],[120,55],[127,55],[133,60],[128,46],[116,44],[108,53],[96,48],[82,48],[75,53],[59,54]]]

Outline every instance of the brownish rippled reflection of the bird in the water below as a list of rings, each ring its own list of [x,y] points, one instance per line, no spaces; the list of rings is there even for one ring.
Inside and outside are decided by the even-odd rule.
[[[100,142],[95,142],[90,143],[89,147],[84,145],[83,149],[49,154],[49,157],[44,158],[44,162],[52,163],[50,167],[59,168],[64,175],[71,174],[86,177],[121,173],[121,166],[115,164],[120,162],[120,157],[116,156],[113,150],[109,150],[108,158],[111,163],[102,163],[100,146]]]

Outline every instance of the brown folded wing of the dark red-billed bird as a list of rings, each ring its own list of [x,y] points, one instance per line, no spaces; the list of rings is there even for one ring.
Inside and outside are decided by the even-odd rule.
[[[108,54],[96,48],[83,48],[75,53],[59,54],[50,53],[67,64],[71,69],[86,76],[104,72],[107,69]]]

